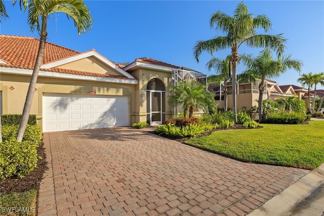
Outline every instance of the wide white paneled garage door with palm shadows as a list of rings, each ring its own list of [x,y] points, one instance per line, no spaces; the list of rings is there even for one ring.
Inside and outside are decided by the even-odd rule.
[[[128,97],[44,94],[43,131],[129,126]]]

